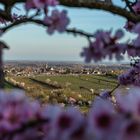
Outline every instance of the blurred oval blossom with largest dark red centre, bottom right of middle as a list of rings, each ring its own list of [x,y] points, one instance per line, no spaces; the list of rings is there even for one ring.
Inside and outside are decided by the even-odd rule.
[[[105,99],[97,98],[93,102],[93,108],[89,114],[89,131],[92,131],[95,139],[106,140],[111,136],[114,125],[114,107],[112,103]]]

